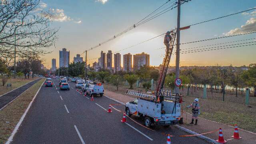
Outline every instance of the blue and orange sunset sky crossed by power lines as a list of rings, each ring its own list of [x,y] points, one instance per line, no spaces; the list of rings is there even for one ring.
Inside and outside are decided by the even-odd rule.
[[[52,12],[52,26],[60,28],[58,41],[55,47],[49,50],[51,54],[43,56],[47,68],[51,67],[52,58],[56,58],[56,66],[59,65],[59,50],[66,48],[70,50],[70,62],[76,54],[82,54],[84,50],[98,45],[100,42],[112,38],[114,35],[133,26],[136,22],[156,10],[168,0],[42,0],[40,8]],[[171,0],[171,2],[174,0]],[[168,2],[165,6],[170,5]],[[256,6],[256,0],[191,0],[182,4],[180,15],[180,26],[188,26],[204,20],[210,20],[220,16],[248,10]],[[120,51],[121,56],[127,53],[138,54],[145,52],[150,54],[150,65],[162,64],[164,49],[163,37],[155,38],[138,46],[128,48],[144,40],[153,38],[177,26],[177,8],[142,24],[126,34],[88,51],[88,64],[100,57],[100,51],[112,53]],[[240,32],[256,30],[256,10],[236,14],[226,18],[191,26],[180,32],[180,43],[192,42],[238,34]],[[255,34],[220,38],[192,44],[182,44],[180,49],[198,46],[212,45],[236,40],[256,38]],[[236,42],[254,42],[255,40]],[[250,43],[252,44],[252,43]],[[224,46],[222,44],[217,46]],[[246,45],[246,44],[244,44]],[[210,46],[212,47],[212,46]],[[213,66],[216,64],[227,66],[249,65],[256,63],[256,46],[243,46],[228,48],[224,50],[212,50],[180,54],[180,66]],[[114,54],[112,56],[114,58]],[[122,57],[121,57],[122,65]],[[171,66],[175,66],[175,56],[172,56]]]

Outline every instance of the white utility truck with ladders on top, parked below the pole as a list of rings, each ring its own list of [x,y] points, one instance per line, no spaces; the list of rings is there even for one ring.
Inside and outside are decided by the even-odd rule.
[[[131,90],[128,90],[131,91]],[[128,92],[129,93],[129,92]],[[181,113],[180,113],[180,103],[173,102],[171,100],[164,99],[161,103],[154,102],[150,98],[146,98],[146,93],[138,96],[135,92],[133,94],[137,96],[135,100],[127,102],[125,106],[127,116],[138,116],[141,120],[144,120],[144,125],[150,127],[152,125],[161,125],[168,127],[170,125],[178,124]],[[154,96],[151,95],[152,98]]]

